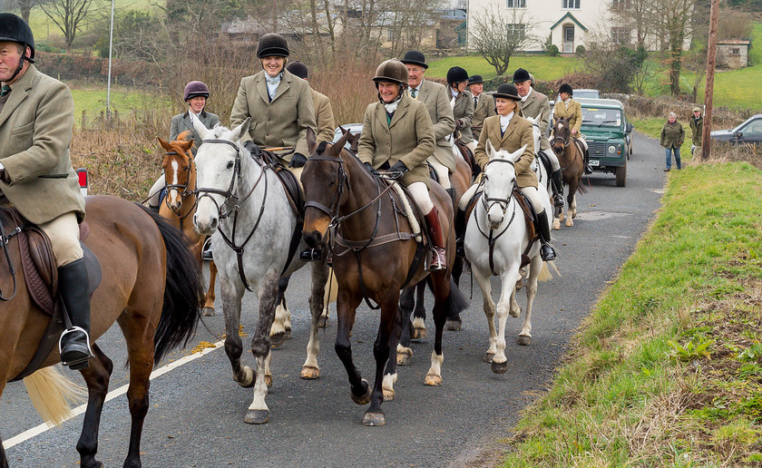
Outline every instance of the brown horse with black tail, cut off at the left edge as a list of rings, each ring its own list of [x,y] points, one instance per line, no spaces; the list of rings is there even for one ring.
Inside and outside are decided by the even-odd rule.
[[[103,466],[95,459],[95,454],[113,364],[95,340],[116,322],[127,343],[130,365],[127,399],[132,428],[124,466],[141,466],[140,444],[143,421],[149,408],[151,369],[163,356],[175,347],[184,346],[193,336],[200,318],[203,282],[198,262],[185,240],[158,214],[116,197],[88,197],[85,200],[89,235],[84,244],[100,260],[102,281],[91,300],[93,357],[90,366],[80,371],[87,384],[89,399],[76,448],[80,453],[80,466]],[[3,229],[15,228],[8,210],[2,211]],[[0,260],[3,270],[0,296],[5,294],[0,302],[0,336],[3,336],[0,340],[0,394],[6,382],[15,380],[33,360],[40,340],[48,334],[46,327],[51,321],[24,287],[24,269],[16,268],[14,273],[14,268],[21,265],[19,236],[11,238],[5,230],[3,237],[4,243],[6,240],[10,242],[5,244],[6,255]],[[11,289],[14,294],[7,292]],[[39,381],[35,376],[50,376],[47,366],[58,362],[58,348],[54,346],[41,364],[45,368],[24,379],[24,383],[29,387],[27,379]],[[71,390],[66,384],[49,387],[51,383],[61,383],[55,375],[52,382],[36,383],[42,385],[44,395],[59,395],[61,390]],[[60,413],[53,417],[59,422],[63,418]],[[2,448],[0,466],[8,466]]]

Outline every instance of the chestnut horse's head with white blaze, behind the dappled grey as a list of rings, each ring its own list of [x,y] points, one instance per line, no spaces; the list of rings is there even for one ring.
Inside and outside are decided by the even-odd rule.
[[[190,131],[182,132],[175,141],[159,139],[161,148],[167,151],[161,163],[161,167],[164,168],[164,178],[167,181],[167,197],[164,200],[167,206],[176,213],[182,208],[182,199],[190,194],[189,190],[192,191],[194,189],[192,186],[195,185],[195,180],[191,177],[195,175],[195,171],[192,171],[193,154],[190,152],[193,140],[186,141],[189,135]]]

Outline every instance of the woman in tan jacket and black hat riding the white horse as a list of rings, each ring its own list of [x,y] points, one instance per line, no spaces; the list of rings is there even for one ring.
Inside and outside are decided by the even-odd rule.
[[[487,141],[490,141],[495,150],[517,151],[523,145],[526,145],[519,161],[516,161],[514,168],[516,171],[516,185],[522,190],[522,193],[532,202],[534,212],[537,213],[537,227],[540,234],[540,256],[542,260],[549,261],[555,258],[555,250],[551,246],[551,229],[548,222],[548,213],[542,207],[540,193],[537,191],[537,175],[532,171],[532,160],[534,159],[534,134],[532,132],[532,123],[524,119],[519,112],[519,105],[522,101],[519,92],[511,83],[503,83],[494,93],[494,100],[497,106],[497,115],[488,117],[484,121],[484,129],[479,136],[479,143],[476,145],[476,161],[482,166],[489,162],[486,152]],[[458,210],[465,211],[467,205],[478,190],[479,182],[475,182],[461,198]]]

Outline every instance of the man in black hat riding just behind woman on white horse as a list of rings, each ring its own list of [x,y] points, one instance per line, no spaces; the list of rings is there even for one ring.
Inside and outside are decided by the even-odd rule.
[[[556,207],[563,206],[563,181],[561,164],[558,162],[558,158],[551,150],[551,142],[548,141],[548,125],[551,121],[551,103],[548,96],[536,91],[532,88],[532,74],[524,70],[523,68],[516,69],[513,72],[513,84],[516,85],[516,89],[519,92],[519,96],[522,97],[522,101],[519,106],[521,107],[523,117],[536,119],[540,116],[540,148],[535,148],[534,151],[540,154],[541,158],[546,159],[551,163],[551,180],[553,190],[553,205]]]

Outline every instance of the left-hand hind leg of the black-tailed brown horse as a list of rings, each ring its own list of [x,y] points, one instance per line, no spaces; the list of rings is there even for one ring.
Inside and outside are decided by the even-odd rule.
[[[103,466],[95,460],[95,453],[98,452],[98,428],[101,425],[103,403],[109,391],[109,379],[113,370],[112,360],[104,355],[96,344],[93,343],[91,348],[95,358],[90,360],[88,368],[81,371],[87,384],[87,408],[84,412],[82,434],[77,442],[80,466],[83,468]],[[140,458],[137,462],[140,463]]]

